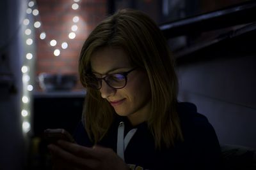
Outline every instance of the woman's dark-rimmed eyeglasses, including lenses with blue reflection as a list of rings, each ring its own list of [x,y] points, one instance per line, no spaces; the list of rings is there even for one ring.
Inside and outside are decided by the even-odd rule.
[[[88,87],[99,90],[102,87],[102,80],[104,80],[109,87],[112,87],[113,89],[122,89],[127,84],[127,75],[135,69],[136,68],[133,68],[123,73],[108,74],[103,78],[97,78],[95,74],[92,73],[87,74],[86,83]]]

